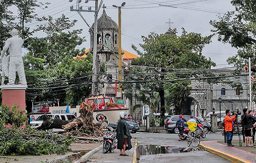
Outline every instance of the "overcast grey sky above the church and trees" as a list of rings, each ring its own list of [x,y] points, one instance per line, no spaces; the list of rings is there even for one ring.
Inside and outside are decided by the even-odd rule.
[[[89,27],[85,24],[78,12],[70,11],[70,6],[76,6],[76,0],[40,0],[41,2],[50,2],[48,9],[36,9],[35,12],[39,16],[51,15],[53,18],[60,17],[62,14],[70,19],[77,19],[78,22],[73,29],[84,29],[81,37],[86,38],[87,42],[78,46],[90,47]],[[106,13],[114,21],[118,23],[118,9],[112,5],[121,6],[126,2],[121,9],[121,33],[122,33],[122,49],[133,54],[136,52],[132,49],[132,44],[142,50],[139,44],[143,44],[141,36],[147,36],[150,32],[158,34],[165,33],[169,29],[167,21],[173,22],[170,28],[177,28],[178,34],[181,35],[181,28],[185,28],[187,32],[201,33],[203,36],[213,34],[210,30],[214,29],[210,24],[210,20],[218,20],[218,15],[223,16],[227,11],[234,11],[234,6],[230,0],[98,0],[98,5],[101,5],[98,12],[98,18],[102,15],[103,4],[107,7]],[[92,7],[94,10],[95,1],[89,0],[85,3],[82,0],[80,6],[83,9]],[[173,7],[169,7],[173,6]],[[175,8],[177,7],[177,8]],[[94,23],[94,12],[81,12],[86,22],[92,25]],[[26,27],[35,28],[40,22],[32,22],[26,24]],[[42,35],[42,34],[38,34]],[[212,38],[212,43],[206,45],[203,49],[203,55],[206,58],[211,58],[217,64],[217,67],[224,68],[232,67],[228,65],[226,60],[228,57],[234,56],[237,49],[231,47],[230,44],[224,44],[217,40],[218,36]]]

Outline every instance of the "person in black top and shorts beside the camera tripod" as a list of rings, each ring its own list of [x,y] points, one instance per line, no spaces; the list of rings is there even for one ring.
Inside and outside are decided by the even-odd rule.
[[[244,123],[244,133],[245,133],[245,147],[251,147],[251,139],[252,139],[252,116],[248,114],[247,108],[243,109],[244,114],[242,115],[242,122]],[[254,124],[255,125],[255,124]],[[248,143],[247,143],[247,138],[248,138]]]

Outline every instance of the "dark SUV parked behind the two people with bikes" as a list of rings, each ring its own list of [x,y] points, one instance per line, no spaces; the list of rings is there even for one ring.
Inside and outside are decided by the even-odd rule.
[[[190,118],[190,116],[188,115],[184,115],[185,119],[188,120],[188,118]],[[176,121],[179,119],[179,115],[170,115],[167,116],[167,118],[165,119],[165,125],[164,128],[166,131],[168,131],[169,133],[179,133],[178,129],[176,128]],[[204,122],[203,120],[200,120],[199,117],[194,117],[194,119],[196,119],[197,123],[201,123],[203,125],[204,128],[204,132],[206,134],[208,134],[210,132],[210,130],[212,129],[212,126],[210,123],[208,122]],[[188,128],[187,123],[184,123],[184,127]]]

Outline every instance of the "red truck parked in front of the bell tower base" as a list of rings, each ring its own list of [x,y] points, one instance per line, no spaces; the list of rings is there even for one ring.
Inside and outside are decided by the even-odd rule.
[[[117,103],[114,103],[111,97],[107,97],[106,95],[100,95],[95,97],[90,97],[87,99],[88,103],[89,101],[93,102],[93,109],[95,110],[103,110],[103,109],[125,109],[126,106],[119,106]]]

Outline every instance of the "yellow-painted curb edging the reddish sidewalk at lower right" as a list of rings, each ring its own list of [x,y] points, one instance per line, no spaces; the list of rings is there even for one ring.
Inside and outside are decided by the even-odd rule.
[[[235,157],[231,154],[227,154],[227,153],[224,153],[222,151],[215,150],[214,148],[205,146],[202,143],[200,143],[198,147],[203,148],[207,152],[210,152],[210,153],[216,154],[220,157],[223,157],[223,158],[225,158],[225,159],[227,159],[227,160],[229,160],[233,163],[250,163],[249,161],[246,161],[246,160],[241,159],[239,157]]]

